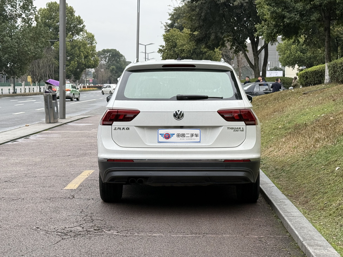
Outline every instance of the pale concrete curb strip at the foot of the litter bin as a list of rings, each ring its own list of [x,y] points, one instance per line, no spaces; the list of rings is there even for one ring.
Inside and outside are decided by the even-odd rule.
[[[45,130],[52,129],[54,127],[58,127],[60,125],[63,125],[69,122],[88,118],[91,116],[92,115],[88,115],[88,116],[79,115],[79,116],[67,117],[66,119],[59,119],[59,121],[56,123],[39,122],[39,123],[35,123],[29,126],[20,127],[18,129],[4,131],[0,133],[0,145],[11,142],[16,139],[26,137],[26,136],[31,136],[33,134],[37,134]]]

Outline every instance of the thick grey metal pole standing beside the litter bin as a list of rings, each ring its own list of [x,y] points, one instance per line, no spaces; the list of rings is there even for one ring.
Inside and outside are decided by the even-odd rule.
[[[60,0],[60,119],[66,119],[66,0]]]

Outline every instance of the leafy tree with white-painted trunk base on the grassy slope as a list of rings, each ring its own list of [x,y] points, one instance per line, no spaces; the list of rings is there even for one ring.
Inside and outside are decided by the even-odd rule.
[[[331,23],[343,21],[343,0],[256,0],[263,22],[258,25],[265,38],[282,35],[283,39],[304,36],[310,44],[323,33],[325,46],[325,81],[330,82]]]

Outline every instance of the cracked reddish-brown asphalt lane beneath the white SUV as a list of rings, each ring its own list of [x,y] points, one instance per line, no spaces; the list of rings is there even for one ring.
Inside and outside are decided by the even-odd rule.
[[[127,185],[104,203],[100,117],[0,145],[0,256],[305,256],[261,196],[241,204],[232,186]]]

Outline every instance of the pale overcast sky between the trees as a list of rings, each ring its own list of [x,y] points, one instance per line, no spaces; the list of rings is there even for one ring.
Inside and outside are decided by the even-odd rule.
[[[47,2],[51,1],[34,0],[37,8],[46,7]],[[95,35],[97,50],[114,48],[128,61],[136,58],[137,0],[67,0],[67,3]],[[146,46],[146,52],[157,52],[159,45],[164,45],[162,23],[168,21],[170,5],[176,4],[175,0],[140,0],[139,42],[154,43]],[[139,51],[144,52],[144,46]],[[153,57],[161,60],[159,53],[149,54],[149,59]],[[144,61],[144,53],[140,53],[139,59]]]

